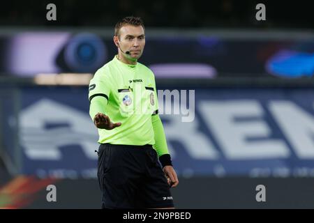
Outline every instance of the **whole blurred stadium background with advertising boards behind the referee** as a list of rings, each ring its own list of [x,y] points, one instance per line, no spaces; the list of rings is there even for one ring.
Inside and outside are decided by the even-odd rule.
[[[46,20],[48,3],[57,21]],[[255,20],[257,3],[266,21]],[[310,1],[10,1],[0,10],[0,208],[100,208],[87,85],[116,54],[113,26],[129,15],[146,25],[140,62],[157,89],[195,90],[194,121],[161,115],[177,208],[314,208]],[[46,200],[50,184],[57,202]],[[255,200],[257,185],[266,202]]]

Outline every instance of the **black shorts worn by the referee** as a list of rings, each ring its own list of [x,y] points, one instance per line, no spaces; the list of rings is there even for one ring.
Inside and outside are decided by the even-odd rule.
[[[100,144],[102,208],[170,208],[170,186],[151,145]]]

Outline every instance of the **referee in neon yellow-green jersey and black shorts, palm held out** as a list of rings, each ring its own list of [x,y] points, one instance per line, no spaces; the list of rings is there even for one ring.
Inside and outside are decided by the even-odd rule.
[[[158,116],[154,73],[137,62],[145,45],[140,17],[118,22],[113,40],[118,54],[89,84],[102,208],[174,208],[170,187],[179,180]]]

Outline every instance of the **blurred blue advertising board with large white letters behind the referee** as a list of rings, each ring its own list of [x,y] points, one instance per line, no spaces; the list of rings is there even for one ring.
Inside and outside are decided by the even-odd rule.
[[[179,102],[158,91],[179,176],[314,176],[314,90],[194,90],[169,90]],[[98,133],[87,88],[23,88],[21,97],[22,172],[96,178]]]

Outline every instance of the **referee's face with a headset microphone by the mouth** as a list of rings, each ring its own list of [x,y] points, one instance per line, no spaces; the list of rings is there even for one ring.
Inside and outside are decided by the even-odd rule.
[[[137,60],[142,56],[145,45],[145,34],[142,26],[122,26],[119,37],[114,36],[114,42],[124,51],[129,51],[128,59]]]

